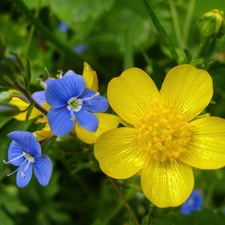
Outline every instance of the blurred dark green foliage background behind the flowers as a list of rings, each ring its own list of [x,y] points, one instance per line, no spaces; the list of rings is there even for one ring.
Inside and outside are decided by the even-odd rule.
[[[101,94],[106,93],[111,78],[133,66],[146,70],[160,87],[166,72],[185,60],[184,48],[191,56],[198,50],[203,37],[196,21],[210,10],[225,10],[225,2],[147,2],[177,50],[178,62],[162,44],[143,0],[1,0],[0,60],[12,54],[23,65],[30,60],[31,93],[41,90],[37,78],[47,78],[44,68],[53,77],[57,70],[72,69],[82,74],[84,61],[97,72]],[[60,22],[67,24],[66,30],[62,30]],[[225,37],[217,39],[214,51],[204,60],[214,81],[213,101],[207,112],[224,118]],[[0,77],[12,76],[1,65]],[[2,84],[0,91],[4,90],[7,87]],[[35,120],[20,122],[0,117],[0,159],[7,159],[9,132],[33,132],[38,128]],[[92,146],[68,138],[54,142],[48,154],[54,170],[47,187],[32,178],[28,186],[17,188],[15,175],[6,177],[15,168],[0,163],[0,225],[133,224],[113,186],[99,170]],[[139,186],[138,175],[118,181],[118,185],[137,218],[141,221],[144,217],[145,224],[149,202],[134,188]],[[225,170],[196,170],[195,187],[203,193],[201,211],[184,216],[180,207],[155,209],[152,224],[223,224]]]

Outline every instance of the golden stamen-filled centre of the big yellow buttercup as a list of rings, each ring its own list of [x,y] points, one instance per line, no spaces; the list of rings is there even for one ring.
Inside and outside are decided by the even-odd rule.
[[[178,158],[191,137],[185,117],[166,105],[151,105],[134,127],[139,150],[161,162]]]

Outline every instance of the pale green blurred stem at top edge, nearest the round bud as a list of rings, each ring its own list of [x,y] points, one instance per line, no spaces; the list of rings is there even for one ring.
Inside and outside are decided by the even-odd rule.
[[[189,29],[190,29],[190,24],[191,24],[194,8],[195,8],[195,0],[190,0],[188,5],[188,10],[187,10],[187,15],[184,21],[184,32],[183,32],[184,48],[186,48],[186,45],[188,43]]]

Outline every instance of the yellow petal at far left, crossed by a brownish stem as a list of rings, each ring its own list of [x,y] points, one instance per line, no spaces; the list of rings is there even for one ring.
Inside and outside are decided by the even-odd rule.
[[[9,104],[16,105],[21,111],[27,109],[28,106],[29,106],[28,103],[20,100],[19,98],[12,98],[12,100],[9,102]],[[27,115],[27,111],[19,113],[18,115],[13,116],[13,118],[15,118],[17,120],[20,120],[20,121],[25,121],[26,115]],[[42,115],[42,113],[39,110],[37,110],[36,108],[33,107],[28,119],[33,119],[33,118],[36,118],[40,115]]]

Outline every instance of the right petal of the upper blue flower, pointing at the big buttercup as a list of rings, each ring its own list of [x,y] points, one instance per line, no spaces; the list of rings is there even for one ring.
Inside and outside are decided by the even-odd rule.
[[[102,96],[93,98],[90,102],[83,102],[83,107],[91,112],[105,112],[108,107],[108,100]]]

